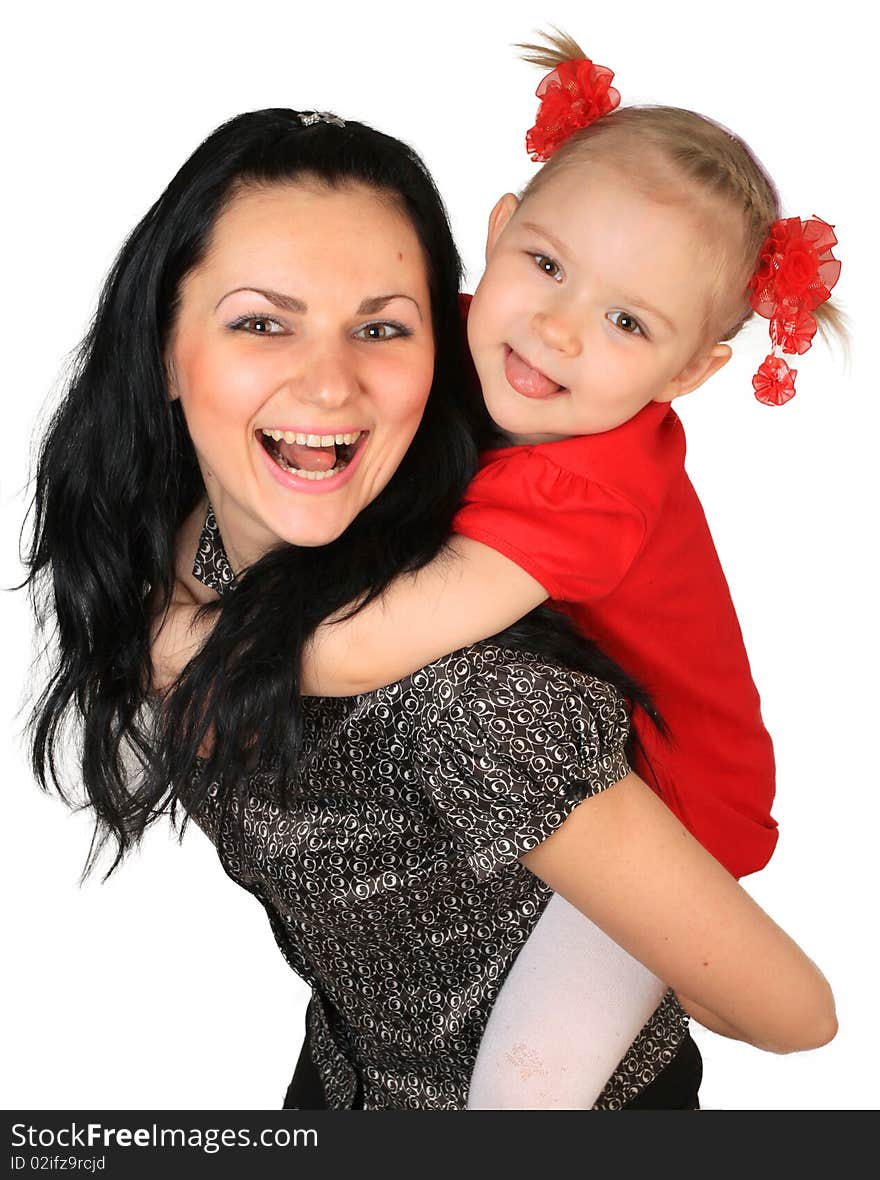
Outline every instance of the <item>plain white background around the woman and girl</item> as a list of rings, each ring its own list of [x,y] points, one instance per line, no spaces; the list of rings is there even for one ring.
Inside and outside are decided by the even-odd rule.
[[[851,15],[860,9],[810,2],[782,17],[763,0],[505,0],[497,11],[461,0],[153,0],[42,5],[37,15],[18,5],[4,18],[5,586],[21,578],[18,531],[38,415],[101,277],[183,159],[234,113],[335,110],[413,143],[447,199],[472,290],[491,204],[534,166],[523,136],[540,76],[510,46],[554,21],[616,71],[624,103],[715,117],[770,169],[787,214],[836,224],[849,365],[817,343],[797,365],[796,399],[760,406],[750,376],[768,348],[762,321],[737,341],[734,362],[681,404],[689,470],[776,740],[782,837],[748,887],[820,963],[840,1016],[834,1043],[789,1057],[700,1035],[709,1108],[876,1106],[880,260],[867,216],[875,66]],[[180,847],[158,827],[110,883],[78,885],[90,824],[33,785],[15,716],[31,623],[24,594],[0,601],[9,1023],[0,1101],[278,1107],[306,995],[262,910],[226,880],[196,831]]]

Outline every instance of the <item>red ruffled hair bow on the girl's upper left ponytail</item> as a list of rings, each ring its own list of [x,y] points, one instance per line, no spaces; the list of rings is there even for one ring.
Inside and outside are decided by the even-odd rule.
[[[590,58],[560,63],[541,79],[536,94],[541,100],[534,126],[526,133],[526,151],[536,164],[549,160],[570,135],[619,105],[611,85],[613,70],[596,66]]]

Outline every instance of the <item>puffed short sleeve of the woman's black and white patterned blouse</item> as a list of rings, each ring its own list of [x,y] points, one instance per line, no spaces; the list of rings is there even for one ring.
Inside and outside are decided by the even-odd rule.
[[[473,667],[480,654],[481,667]],[[629,716],[611,686],[492,645],[459,653],[423,713],[422,788],[482,879],[551,835],[629,771]]]

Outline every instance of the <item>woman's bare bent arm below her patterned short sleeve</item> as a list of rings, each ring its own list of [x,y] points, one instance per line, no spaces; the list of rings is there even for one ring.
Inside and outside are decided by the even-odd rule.
[[[835,1035],[816,965],[637,775],[579,804],[520,859],[709,1028],[771,1053]]]

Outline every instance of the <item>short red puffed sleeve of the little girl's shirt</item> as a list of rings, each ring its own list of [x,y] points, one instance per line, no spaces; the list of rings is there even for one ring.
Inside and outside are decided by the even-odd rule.
[[[616,489],[518,447],[477,472],[453,529],[515,562],[551,598],[589,603],[625,577],[646,524]]]

